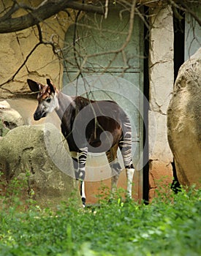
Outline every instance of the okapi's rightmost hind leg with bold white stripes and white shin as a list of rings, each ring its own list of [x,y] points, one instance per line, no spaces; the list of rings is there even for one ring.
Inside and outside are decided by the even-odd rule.
[[[119,140],[118,146],[124,159],[124,167],[127,176],[127,196],[132,198],[132,181],[134,166],[132,163],[132,127],[129,118],[126,118],[123,127],[123,137]]]

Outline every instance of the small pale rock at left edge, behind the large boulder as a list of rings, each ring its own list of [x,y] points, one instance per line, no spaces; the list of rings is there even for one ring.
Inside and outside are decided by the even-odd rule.
[[[0,135],[4,135],[4,129],[13,129],[23,125],[23,118],[20,116],[18,111],[10,107],[10,104],[3,100],[0,102]]]

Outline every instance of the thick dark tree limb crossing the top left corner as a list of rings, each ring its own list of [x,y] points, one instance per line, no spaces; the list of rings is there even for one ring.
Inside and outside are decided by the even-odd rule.
[[[11,15],[23,8],[27,10],[28,14],[20,16],[18,18],[11,18]],[[74,10],[81,10],[85,12],[96,12],[100,15],[104,15],[105,11],[103,7],[96,7],[91,4],[81,4],[72,0],[47,0],[43,1],[37,8],[18,4],[13,4],[11,9],[0,18],[0,34],[10,33],[27,29],[31,26],[37,25],[42,20],[46,20],[56,13],[65,10],[66,8],[72,8]],[[30,12],[30,10],[32,10]]]

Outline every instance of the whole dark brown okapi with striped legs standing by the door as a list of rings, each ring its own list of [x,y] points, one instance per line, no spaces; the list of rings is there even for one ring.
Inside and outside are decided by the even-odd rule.
[[[117,159],[120,148],[127,176],[127,195],[132,197],[132,129],[129,118],[117,103],[110,100],[94,101],[84,97],[63,94],[50,83],[42,85],[27,80],[31,91],[38,92],[38,106],[34,120],[56,110],[61,120],[61,132],[69,145],[75,168],[75,178],[81,181],[80,195],[86,203],[84,178],[88,152],[105,152],[112,169],[112,192],[115,191],[121,166]],[[86,124],[87,122],[87,124]]]

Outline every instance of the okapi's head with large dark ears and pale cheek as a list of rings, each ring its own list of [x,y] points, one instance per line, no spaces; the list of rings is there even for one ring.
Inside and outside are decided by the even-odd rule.
[[[42,85],[34,80],[27,79],[31,91],[38,92],[38,106],[34,113],[34,120],[47,116],[48,113],[59,108],[56,87],[47,79],[47,85]]]

